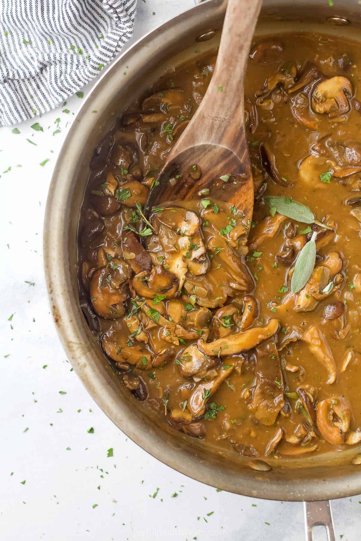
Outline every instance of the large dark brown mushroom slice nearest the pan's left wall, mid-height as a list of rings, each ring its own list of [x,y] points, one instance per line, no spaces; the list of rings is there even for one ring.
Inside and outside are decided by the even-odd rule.
[[[95,312],[105,319],[118,319],[124,314],[123,302],[129,299],[130,271],[128,264],[113,259],[111,266],[98,269],[90,280],[90,299]]]

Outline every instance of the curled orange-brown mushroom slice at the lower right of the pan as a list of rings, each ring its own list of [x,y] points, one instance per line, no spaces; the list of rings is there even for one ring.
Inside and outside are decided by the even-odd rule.
[[[317,403],[318,430],[325,440],[333,445],[345,443],[351,417],[351,404],[343,396],[326,398]]]

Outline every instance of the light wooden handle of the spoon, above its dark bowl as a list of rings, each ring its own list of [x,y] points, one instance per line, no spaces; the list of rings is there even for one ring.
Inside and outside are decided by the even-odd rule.
[[[244,77],[262,0],[228,0],[214,74],[177,154],[198,144],[215,144],[242,156]],[[242,133],[243,132],[243,133]]]

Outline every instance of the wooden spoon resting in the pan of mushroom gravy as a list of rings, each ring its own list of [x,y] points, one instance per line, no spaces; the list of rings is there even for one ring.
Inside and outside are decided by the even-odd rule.
[[[252,220],[253,179],[245,135],[244,78],[262,0],[228,0],[211,83],[170,151],[144,209],[199,197],[234,204]],[[222,177],[222,179],[220,178]],[[250,222],[248,222],[250,223]]]

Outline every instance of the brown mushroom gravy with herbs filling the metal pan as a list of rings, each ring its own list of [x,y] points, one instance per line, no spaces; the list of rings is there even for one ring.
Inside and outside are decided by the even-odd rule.
[[[164,76],[91,159],[84,315],[124,387],[220,450],[300,457],[361,442],[360,49],[314,33],[255,42],[251,223],[207,188],[143,216],[215,55]],[[232,171],[216,180],[234,182]]]

